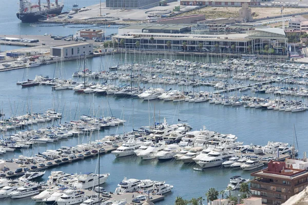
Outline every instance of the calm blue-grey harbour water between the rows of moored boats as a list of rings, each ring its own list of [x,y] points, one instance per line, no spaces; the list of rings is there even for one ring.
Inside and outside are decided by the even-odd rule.
[[[27,24],[20,24],[15,13],[18,5],[17,1],[6,2],[0,0],[2,11],[0,13],[0,34],[37,34],[37,28],[31,27]],[[72,5],[75,1],[70,1]],[[98,4],[98,0],[93,1],[79,1],[80,6],[87,6],[89,4]],[[66,35],[72,33],[72,29],[63,27],[40,27],[41,33],[50,33]],[[107,30],[108,31],[108,30]],[[114,33],[117,31],[112,31]],[[152,56],[162,57],[162,56]],[[187,57],[187,56],[186,56]],[[133,54],[127,56],[127,61],[131,62],[133,59],[139,59],[139,56]],[[109,66],[117,65],[122,62],[124,55],[102,56],[88,59],[88,67],[92,70],[107,69]],[[198,60],[198,58],[188,58]],[[202,60],[202,58],[200,58]],[[149,61],[149,60],[148,60]],[[71,74],[76,71],[78,65],[76,61],[64,62],[63,77],[72,78]],[[141,126],[148,126],[153,124],[153,110],[156,110],[156,119],[161,121],[165,117],[169,124],[176,123],[178,115],[183,120],[188,120],[188,123],[194,130],[207,129],[221,132],[231,133],[238,137],[239,141],[244,141],[244,144],[265,145],[268,140],[282,141],[293,143],[293,126],[296,126],[298,137],[299,152],[308,150],[307,140],[307,114],[301,113],[285,113],[277,111],[264,111],[260,109],[244,109],[243,107],[223,107],[209,105],[208,103],[189,104],[182,102],[177,109],[177,104],[172,102],[163,102],[159,100],[144,102],[140,99],[117,98],[114,96],[96,96],[86,94],[76,94],[71,90],[52,91],[49,86],[38,86],[32,88],[22,89],[21,86],[16,85],[17,80],[22,80],[23,76],[33,79],[35,75],[54,75],[55,64],[39,66],[30,68],[29,70],[13,70],[7,72],[0,72],[0,107],[4,110],[6,116],[25,114],[27,110],[31,112],[43,112],[48,108],[55,108],[59,112],[63,112],[64,120],[78,119],[82,114],[95,113],[100,115],[111,115],[123,117],[127,120],[124,127],[110,128],[100,133],[94,133],[92,136],[84,136],[79,138],[68,138],[61,140],[55,144],[42,145],[35,147],[33,150],[22,151],[20,153],[9,153],[1,157],[11,158],[18,155],[31,156],[32,153],[42,152],[45,149],[57,149],[61,146],[74,146],[87,140],[101,138],[105,135],[123,133],[124,131],[132,130]],[[169,85],[164,86],[168,90]],[[208,88],[200,88],[201,90],[208,90]],[[247,92],[247,94],[250,94]],[[264,95],[265,96],[265,95]],[[110,109],[108,108],[108,103]],[[132,115],[132,106],[134,113]],[[100,108],[99,108],[100,107]],[[149,108],[150,107],[150,108]],[[99,111],[100,110],[100,111]],[[150,110],[150,114],[149,114]],[[160,112],[160,117],[158,113]],[[133,125],[132,125],[133,117]],[[65,165],[63,167],[47,170],[43,180],[47,180],[49,173],[53,170],[62,170],[68,173],[81,173],[92,171],[95,172],[97,159],[87,159]],[[101,156],[101,172],[111,173],[109,179],[104,184],[104,188],[108,191],[114,191],[118,183],[124,178],[149,178],[152,180],[166,180],[167,183],[174,186],[174,189],[168,194],[164,201],[156,204],[170,205],[174,203],[176,196],[182,196],[186,199],[191,197],[205,197],[204,193],[211,187],[218,190],[224,190],[229,182],[229,178],[234,175],[242,175],[244,178],[249,178],[250,172],[234,171],[229,169],[213,168],[204,172],[194,171],[193,165],[184,165],[178,161],[158,162],[156,160],[140,161],[134,157],[126,157],[116,159],[112,154]],[[16,205],[16,204],[34,204],[31,198],[12,200],[1,200],[2,205]]]

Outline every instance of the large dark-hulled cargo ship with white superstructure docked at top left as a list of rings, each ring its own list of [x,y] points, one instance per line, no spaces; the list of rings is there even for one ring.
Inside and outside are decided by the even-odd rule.
[[[38,0],[38,4],[32,4],[29,0],[20,0],[20,8],[16,15],[24,23],[37,22],[40,18],[60,14],[63,7],[64,4],[58,3],[58,0],[55,0],[55,3],[47,0],[47,3],[43,4],[41,0]]]

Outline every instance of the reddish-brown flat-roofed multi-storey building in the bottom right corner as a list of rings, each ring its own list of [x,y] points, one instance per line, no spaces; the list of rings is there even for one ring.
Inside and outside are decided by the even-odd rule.
[[[301,160],[297,160],[301,161]],[[294,168],[294,167],[296,168]],[[297,169],[300,168],[304,169]],[[251,192],[261,197],[264,204],[282,204],[308,185],[308,162],[271,161],[267,169],[253,172]]]

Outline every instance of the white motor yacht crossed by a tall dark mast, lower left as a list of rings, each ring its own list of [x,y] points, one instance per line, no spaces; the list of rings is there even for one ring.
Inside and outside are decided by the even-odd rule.
[[[89,189],[91,187],[99,186],[105,183],[110,174],[93,174],[91,172],[78,175],[78,181],[72,183],[72,187],[78,189]],[[99,184],[100,183],[100,184]]]

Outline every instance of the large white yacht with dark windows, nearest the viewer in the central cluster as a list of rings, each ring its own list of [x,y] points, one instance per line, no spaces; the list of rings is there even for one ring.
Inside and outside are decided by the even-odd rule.
[[[208,155],[197,162],[197,164],[202,168],[210,168],[221,166],[222,162],[234,157],[233,152],[227,152],[224,150],[213,150],[208,153]]]

